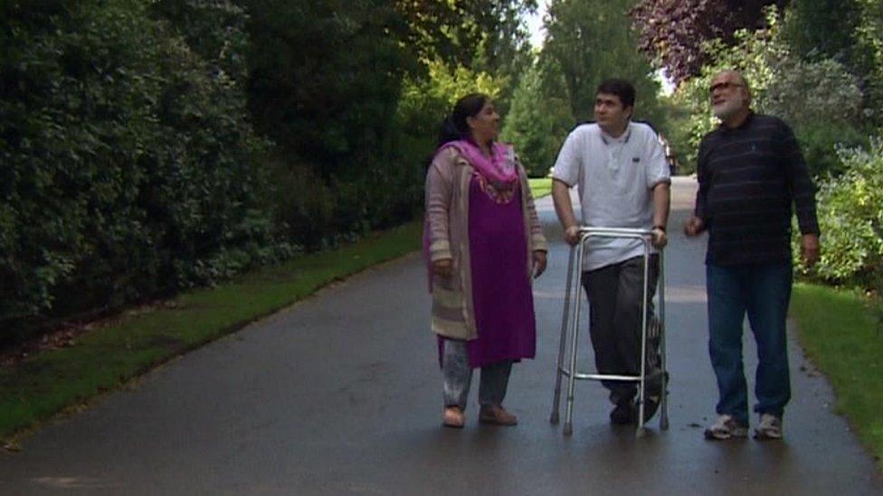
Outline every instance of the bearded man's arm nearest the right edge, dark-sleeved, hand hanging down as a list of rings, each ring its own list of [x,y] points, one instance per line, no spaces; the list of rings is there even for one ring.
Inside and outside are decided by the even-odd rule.
[[[801,256],[807,266],[819,261],[819,220],[816,217],[815,185],[812,184],[809,167],[803,160],[800,145],[790,127],[783,123],[782,157],[797,225],[801,231]]]

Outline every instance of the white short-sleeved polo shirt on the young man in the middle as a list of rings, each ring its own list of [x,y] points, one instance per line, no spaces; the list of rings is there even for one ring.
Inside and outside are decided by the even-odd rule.
[[[629,122],[613,138],[597,124],[577,126],[561,146],[552,177],[577,186],[582,224],[596,228],[653,227],[653,188],[670,182],[669,165],[653,129]],[[590,241],[583,270],[594,270],[643,253],[637,239]]]

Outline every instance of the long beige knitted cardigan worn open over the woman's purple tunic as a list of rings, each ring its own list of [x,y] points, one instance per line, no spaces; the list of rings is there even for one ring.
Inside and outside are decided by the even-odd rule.
[[[509,160],[515,162],[521,181],[521,205],[524,210],[527,238],[528,284],[533,272],[534,251],[547,251],[546,237],[540,227],[534,198],[527,185],[527,174],[515,152],[509,148]],[[425,229],[429,236],[430,261],[450,258],[451,277],[432,277],[432,332],[447,338],[474,340],[475,312],[472,306],[470,270],[469,197],[473,168],[454,147],[448,147],[432,159],[426,174]]]

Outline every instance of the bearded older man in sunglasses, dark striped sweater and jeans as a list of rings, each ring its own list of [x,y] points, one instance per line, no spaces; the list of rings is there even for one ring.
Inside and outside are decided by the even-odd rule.
[[[802,257],[819,258],[814,188],[793,132],[781,119],[755,114],[751,90],[735,70],[709,88],[721,125],[699,145],[696,211],[684,226],[708,231],[708,351],[720,398],[708,439],[745,437],[748,401],[742,364],[745,314],[757,342],[755,437],[782,437],[791,398],[785,318],[791,298],[792,205]]]

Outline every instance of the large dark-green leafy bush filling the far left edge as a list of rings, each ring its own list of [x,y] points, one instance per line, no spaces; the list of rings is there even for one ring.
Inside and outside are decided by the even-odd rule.
[[[0,34],[3,327],[211,283],[275,256],[257,200],[266,145],[235,70],[201,59],[150,4],[2,7],[13,27]],[[214,30],[233,54],[243,45],[235,23]]]

